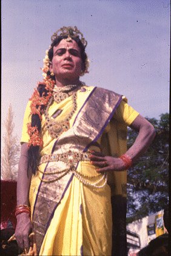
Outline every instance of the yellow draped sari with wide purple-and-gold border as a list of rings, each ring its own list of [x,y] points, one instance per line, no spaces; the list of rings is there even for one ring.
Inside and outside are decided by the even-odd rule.
[[[113,116],[125,98],[102,88],[85,86],[82,89],[77,93],[78,108],[70,120],[70,129],[62,133],[58,140],[49,136],[42,116],[44,148],[41,155],[64,154],[69,150],[86,152],[89,149],[113,156],[126,152],[126,128],[138,113],[130,108],[127,121],[117,122]],[[72,110],[71,97],[59,104],[53,102],[49,115],[53,116],[58,109],[62,110],[58,116],[60,121]],[[25,114],[24,122],[28,118]],[[24,136],[27,137],[23,131],[22,142],[28,139]],[[72,171],[58,179],[59,173],[65,168],[66,163],[61,161],[42,163],[39,165],[39,170],[44,172],[41,174],[42,179],[56,181],[41,182],[38,174],[32,177],[30,206],[39,255],[111,255],[116,249],[116,246],[112,249],[112,239],[118,239],[116,236],[120,229],[115,224],[119,221],[117,198],[123,202],[123,212],[126,205],[126,171],[107,174],[108,182],[103,186],[105,178],[102,174],[98,175],[96,166],[88,161],[77,163],[76,171],[86,177],[89,183],[92,183],[91,177],[96,176],[93,182],[101,186],[96,188],[82,183]],[[57,173],[46,175],[49,169]],[[113,201],[114,198],[116,200]],[[113,205],[116,218],[112,217]],[[121,218],[125,218],[125,213]],[[112,222],[113,230],[114,227],[118,230],[113,232],[113,236]]]

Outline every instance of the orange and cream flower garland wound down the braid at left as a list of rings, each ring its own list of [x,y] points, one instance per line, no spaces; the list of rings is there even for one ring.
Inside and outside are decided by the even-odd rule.
[[[42,120],[42,105],[47,105],[49,102],[49,99],[52,97],[52,91],[55,86],[55,80],[53,80],[50,76],[47,76],[47,72],[49,71],[49,57],[48,57],[48,50],[45,51],[45,59],[43,60],[44,67],[42,68],[42,71],[44,72],[42,75],[44,76],[44,79],[42,82],[38,82],[37,88],[34,90],[32,97],[30,98],[31,104],[30,104],[30,115],[38,115],[40,120]],[[42,94],[42,96],[39,95],[38,87],[39,85],[45,85],[45,90],[48,91],[47,96],[45,96],[45,93]],[[41,137],[41,133],[39,133],[38,127],[33,126],[31,123],[27,124],[27,132],[30,136],[29,144],[28,146],[39,146],[42,147],[43,141]]]

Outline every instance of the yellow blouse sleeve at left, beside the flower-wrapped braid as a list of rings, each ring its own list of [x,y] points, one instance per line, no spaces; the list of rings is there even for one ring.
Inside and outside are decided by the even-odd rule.
[[[30,101],[27,103],[24,113],[23,125],[22,125],[22,135],[20,143],[28,143],[30,140],[29,134],[27,133],[27,124],[31,122],[30,115]]]

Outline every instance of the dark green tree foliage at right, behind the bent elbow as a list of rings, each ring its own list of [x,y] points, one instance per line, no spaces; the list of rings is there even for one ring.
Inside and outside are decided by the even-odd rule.
[[[160,119],[146,118],[153,124],[156,137],[146,153],[128,171],[127,222],[158,212],[168,204],[169,180],[169,114]],[[128,146],[137,133],[128,131]]]

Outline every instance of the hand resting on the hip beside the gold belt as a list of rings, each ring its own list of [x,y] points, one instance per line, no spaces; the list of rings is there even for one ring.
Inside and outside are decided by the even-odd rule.
[[[90,161],[92,165],[99,167],[96,171],[124,171],[126,166],[121,158],[119,157],[108,157],[102,155],[100,152],[90,151]]]

